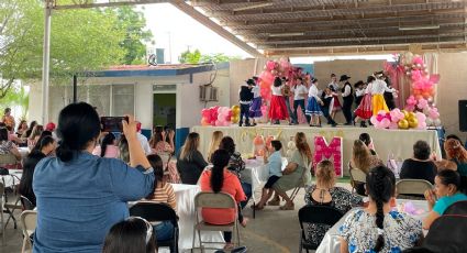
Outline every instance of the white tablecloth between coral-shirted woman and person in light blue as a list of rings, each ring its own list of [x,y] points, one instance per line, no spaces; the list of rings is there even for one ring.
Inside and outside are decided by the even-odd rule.
[[[287,158],[282,157],[282,170],[287,166]],[[260,189],[269,178],[269,168],[264,164],[263,157],[257,160],[246,160],[245,169],[241,173],[242,179],[252,184],[252,198],[256,200],[255,191]]]

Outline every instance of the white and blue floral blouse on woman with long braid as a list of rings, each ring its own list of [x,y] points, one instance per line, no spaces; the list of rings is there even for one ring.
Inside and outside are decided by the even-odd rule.
[[[341,237],[348,243],[348,252],[373,253],[378,239],[375,215],[363,209],[352,211],[340,228]],[[385,215],[385,246],[380,252],[402,252],[413,248],[422,235],[422,222],[407,213],[390,211]]]

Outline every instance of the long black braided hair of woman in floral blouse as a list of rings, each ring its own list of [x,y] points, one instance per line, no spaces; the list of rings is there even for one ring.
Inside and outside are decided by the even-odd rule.
[[[378,229],[383,228],[385,212],[382,207],[389,202],[396,194],[396,177],[394,174],[385,166],[378,166],[370,170],[367,175],[368,195],[376,202],[376,226]],[[385,246],[385,237],[378,232],[375,252],[379,252]]]

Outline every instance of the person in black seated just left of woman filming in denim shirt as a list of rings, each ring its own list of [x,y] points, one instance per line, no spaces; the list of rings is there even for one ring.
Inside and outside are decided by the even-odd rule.
[[[23,161],[23,175],[20,182],[20,194],[36,206],[35,195],[33,190],[33,175],[37,163],[45,158],[42,152],[33,151]]]

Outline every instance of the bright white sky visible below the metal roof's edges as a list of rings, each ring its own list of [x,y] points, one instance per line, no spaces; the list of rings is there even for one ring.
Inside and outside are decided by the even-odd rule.
[[[242,58],[251,57],[249,54],[170,3],[146,4],[140,8],[143,8],[147,29],[153,32],[156,42],[154,47],[166,48],[166,62],[178,63],[178,56],[187,48],[191,48],[191,51],[198,48],[202,54],[223,53],[229,56],[240,56]],[[292,64],[312,64],[313,62],[349,58],[392,61],[391,55],[296,57],[290,61]]]

